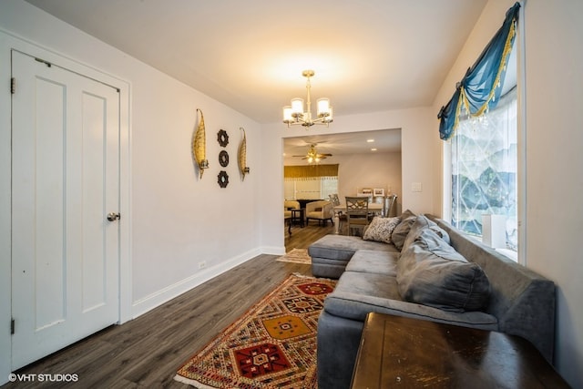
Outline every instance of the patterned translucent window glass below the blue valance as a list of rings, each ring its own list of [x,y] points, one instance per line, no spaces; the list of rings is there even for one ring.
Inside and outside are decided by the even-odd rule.
[[[517,251],[517,93],[479,118],[462,114],[451,143],[452,224],[482,236],[482,215],[506,217],[506,248]]]

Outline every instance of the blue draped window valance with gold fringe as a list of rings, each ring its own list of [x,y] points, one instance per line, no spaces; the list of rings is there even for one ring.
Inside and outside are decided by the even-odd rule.
[[[506,61],[517,35],[517,18],[520,4],[506,12],[504,24],[488,43],[476,63],[467,69],[464,78],[456,85],[454,96],[441,107],[437,118],[439,138],[447,140],[454,135],[462,105],[465,111],[479,117],[487,109],[496,107],[502,92]]]

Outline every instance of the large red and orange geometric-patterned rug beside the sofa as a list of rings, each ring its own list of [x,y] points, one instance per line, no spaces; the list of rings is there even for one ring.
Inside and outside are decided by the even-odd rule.
[[[209,388],[316,388],[316,330],[333,280],[292,274],[185,363],[175,380]]]

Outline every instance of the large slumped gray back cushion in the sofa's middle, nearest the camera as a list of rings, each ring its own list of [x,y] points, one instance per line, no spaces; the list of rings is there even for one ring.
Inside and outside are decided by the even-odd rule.
[[[480,311],[490,296],[486,273],[428,228],[401,253],[397,283],[405,301],[450,312]]]

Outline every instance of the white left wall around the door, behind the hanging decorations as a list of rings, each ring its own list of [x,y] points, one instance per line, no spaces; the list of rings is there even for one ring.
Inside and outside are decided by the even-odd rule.
[[[87,36],[24,1],[0,3],[0,78],[10,79],[9,50],[45,47],[72,62],[88,64],[130,86],[130,209],[125,222],[130,255],[125,319],[169,300],[220,271],[261,253],[261,126],[210,97]],[[16,36],[16,37],[14,37]],[[20,43],[22,42],[22,44]],[[0,93],[0,384],[10,372],[10,96]],[[202,109],[210,169],[195,174],[190,140]],[[237,165],[240,127],[247,131],[251,174],[241,181]],[[220,189],[216,140],[230,136],[230,184]],[[129,178],[128,178],[129,179]],[[280,207],[281,208],[281,207]],[[206,268],[200,270],[199,262]]]

